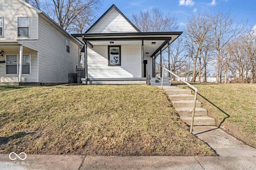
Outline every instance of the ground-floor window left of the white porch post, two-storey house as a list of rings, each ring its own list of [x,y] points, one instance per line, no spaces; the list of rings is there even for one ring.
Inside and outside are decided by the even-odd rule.
[[[17,55],[6,55],[6,74],[17,74]]]

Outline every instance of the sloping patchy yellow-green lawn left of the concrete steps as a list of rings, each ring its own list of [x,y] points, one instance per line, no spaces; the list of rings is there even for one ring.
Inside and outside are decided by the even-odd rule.
[[[215,155],[154,86],[52,86],[0,93],[2,153]]]

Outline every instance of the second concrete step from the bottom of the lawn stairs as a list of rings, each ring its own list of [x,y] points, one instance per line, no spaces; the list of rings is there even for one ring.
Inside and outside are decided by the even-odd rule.
[[[175,107],[180,116],[192,116],[193,107]],[[195,116],[207,116],[208,111],[202,107],[196,107]]]

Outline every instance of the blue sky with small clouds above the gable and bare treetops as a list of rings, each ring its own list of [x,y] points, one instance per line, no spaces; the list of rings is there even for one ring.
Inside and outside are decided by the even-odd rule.
[[[248,25],[256,25],[255,0],[104,0],[100,17],[112,4],[115,4],[124,15],[132,19],[132,13],[157,7],[165,14],[175,14],[179,30],[184,29],[188,16],[198,12],[216,13],[220,10],[231,11],[238,20],[249,20]]]

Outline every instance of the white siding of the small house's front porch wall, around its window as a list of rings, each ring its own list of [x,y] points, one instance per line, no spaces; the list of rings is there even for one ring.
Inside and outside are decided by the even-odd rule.
[[[121,45],[121,66],[108,66],[108,46],[88,47],[88,78],[139,78],[141,45]]]

